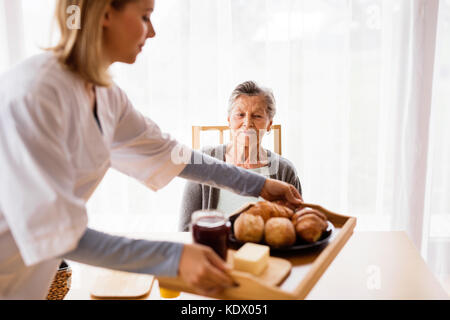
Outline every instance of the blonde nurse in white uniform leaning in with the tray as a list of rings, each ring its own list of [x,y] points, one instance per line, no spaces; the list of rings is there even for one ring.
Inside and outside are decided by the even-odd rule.
[[[67,23],[71,5],[80,28]],[[63,258],[180,276],[201,294],[233,285],[208,247],[89,229],[86,202],[110,167],[152,190],[180,176],[301,205],[287,183],[186,148],[191,161],[175,161],[182,146],[114,84],[109,66],[134,63],[155,36],[153,9],[153,0],[59,0],[58,45],[0,76],[0,299],[44,299]]]

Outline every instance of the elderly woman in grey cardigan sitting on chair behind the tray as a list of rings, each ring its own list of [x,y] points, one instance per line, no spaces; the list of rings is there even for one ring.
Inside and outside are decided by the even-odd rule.
[[[275,99],[271,90],[261,88],[253,81],[241,83],[229,99],[230,143],[206,147],[202,151],[229,164],[290,183],[301,194],[300,180],[293,164],[261,146],[263,137],[270,131],[275,112]],[[237,195],[206,184],[187,182],[179,229],[189,229],[191,215],[196,210],[217,209],[230,214],[245,203],[260,199]]]

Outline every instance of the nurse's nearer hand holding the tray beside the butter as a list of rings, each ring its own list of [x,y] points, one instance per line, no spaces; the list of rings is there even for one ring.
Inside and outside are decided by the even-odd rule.
[[[230,267],[210,247],[185,244],[178,273],[191,287],[203,295],[214,295],[235,286],[227,274]]]

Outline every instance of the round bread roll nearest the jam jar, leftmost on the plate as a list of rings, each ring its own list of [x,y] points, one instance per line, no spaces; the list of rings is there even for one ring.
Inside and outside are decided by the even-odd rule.
[[[262,217],[241,213],[234,221],[234,236],[237,240],[258,243],[264,236],[264,220]]]

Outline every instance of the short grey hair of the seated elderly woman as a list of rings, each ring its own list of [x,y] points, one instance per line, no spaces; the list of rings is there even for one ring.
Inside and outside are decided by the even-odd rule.
[[[266,112],[269,115],[269,119],[272,120],[275,117],[277,108],[272,90],[260,87],[254,81],[245,81],[233,90],[230,99],[228,100],[228,116],[231,115],[231,110],[233,109],[234,103],[241,95],[263,96],[264,100],[266,100]]]

